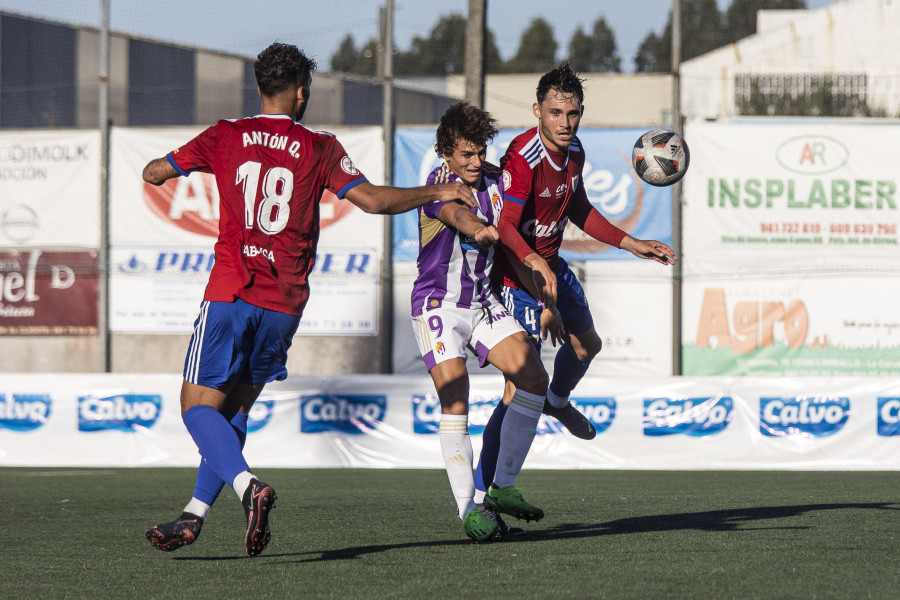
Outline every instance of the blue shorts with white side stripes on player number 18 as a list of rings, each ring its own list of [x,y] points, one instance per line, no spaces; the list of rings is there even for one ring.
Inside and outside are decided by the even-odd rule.
[[[243,300],[204,301],[184,360],[184,379],[215,389],[284,379],[287,351],[299,325],[300,317]]]

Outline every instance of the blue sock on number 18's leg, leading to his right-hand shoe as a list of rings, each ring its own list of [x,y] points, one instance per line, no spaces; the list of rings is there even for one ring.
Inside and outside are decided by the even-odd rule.
[[[238,473],[250,467],[241,453],[241,442],[231,423],[211,406],[194,406],[182,415],[188,433],[194,438],[204,463],[231,485]]]

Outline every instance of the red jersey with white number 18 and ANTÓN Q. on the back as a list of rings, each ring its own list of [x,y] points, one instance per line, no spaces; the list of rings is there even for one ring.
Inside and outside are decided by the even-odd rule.
[[[287,115],[257,115],[219,121],[168,159],[182,175],[216,177],[219,237],[203,299],[302,315],[322,192],[343,198],[366,181],[337,139]]]

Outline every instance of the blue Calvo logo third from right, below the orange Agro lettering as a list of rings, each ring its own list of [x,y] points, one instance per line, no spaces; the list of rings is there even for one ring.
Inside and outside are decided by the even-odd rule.
[[[682,434],[695,437],[725,431],[734,418],[729,396],[708,398],[648,398],[644,400],[644,435]]]

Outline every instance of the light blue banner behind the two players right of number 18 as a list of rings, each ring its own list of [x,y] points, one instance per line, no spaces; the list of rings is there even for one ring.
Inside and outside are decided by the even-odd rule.
[[[586,153],[582,174],[588,198],[614,225],[640,239],[672,244],[672,190],[641,181],[631,168],[631,149],[644,129],[582,129],[578,132]],[[522,130],[502,130],[488,146],[488,162],[499,164],[512,139]],[[428,173],[441,160],[434,152],[434,129],[398,129],[394,135],[394,179],[399,187],[424,185]],[[566,232],[563,258],[583,260],[637,260],[629,252],[610,249],[573,231]],[[582,234],[582,235],[579,235]],[[415,262],[418,257],[415,211],[394,217],[394,262]]]

